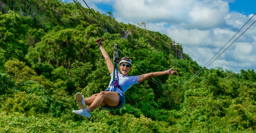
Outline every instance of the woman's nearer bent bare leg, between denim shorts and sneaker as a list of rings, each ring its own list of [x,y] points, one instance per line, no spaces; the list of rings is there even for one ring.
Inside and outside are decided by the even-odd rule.
[[[105,102],[105,103],[103,103]],[[118,105],[119,97],[116,92],[111,91],[101,91],[97,97],[94,99],[94,101],[91,103],[91,105],[88,107],[89,110],[87,112],[91,112],[92,110],[96,109],[97,107],[101,105],[108,104],[109,106],[116,106]]]

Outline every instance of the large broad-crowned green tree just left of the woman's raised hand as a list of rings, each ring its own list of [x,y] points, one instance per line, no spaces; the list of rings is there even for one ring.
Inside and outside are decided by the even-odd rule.
[[[99,32],[103,32],[101,28],[98,29]],[[87,52],[87,48],[92,45],[92,39],[88,39],[89,36],[98,37],[91,25],[86,29],[78,26],[77,29],[65,29],[54,35],[45,35],[36,46],[35,52],[39,53],[39,62],[47,61],[53,66],[71,69],[71,64],[76,60],[79,62],[85,62],[86,59],[92,60]]]

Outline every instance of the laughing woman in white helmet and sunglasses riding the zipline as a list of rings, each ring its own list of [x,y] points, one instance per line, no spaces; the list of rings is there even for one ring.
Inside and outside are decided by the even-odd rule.
[[[98,38],[96,40],[96,44],[98,44],[100,51],[102,52],[102,55],[104,56],[108,70],[110,72],[111,81],[109,83],[108,89],[112,89],[111,84],[113,81],[113,71],[114,71],[114,65],[105,51],[105,49],[102,46],[102,42],[104,40],[102,38]],[[119,68],[120,68],[120,74],[118,75],[119,78],[119,85],[118,88],[115,91],[101,91],[98,94],[94,94],[89,98],[84,99],[84,96],[81,95],[80,92],[76,93],[75,99],[78,103],[78,106],[80,110],[73,110],[72,113],[84,116],[87,118],[91,117],[91,111],[96,109],[97,107],[101,106],[103,109],[111,111],[111,110],[118,110],[121,109],[125,104],[125,91],[129,89],[133,84],[139,84],[140,82],[151,78],[151,77],[157,77],[165,74],[172,75],[173,73],[177,73],[176,71],[172,71],[173,68],[162,71],[162,72],[154,72],[154,73],[147,73],[139,76],[127,76],[130,72],[132,66],[132,61],[129,57],[124,57],[119,61]],[[116,73],[115,73],[116,75]],[[89,106],[88,108],[85,108],[85,105]]]

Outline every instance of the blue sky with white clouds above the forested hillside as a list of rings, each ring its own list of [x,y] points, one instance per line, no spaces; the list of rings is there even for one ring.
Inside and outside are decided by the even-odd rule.
[[[65,1],[72,2],[72,0]],[[83,0],[77,1],[85,7]],[[118,22],[133,25],[148,23],[149,30],[159,31],[182,43],[183,52],[201,66],[204,66],[256,12],[256,0],[86,0],[86,2],[90,8],[100,13],[112,12]],[[255,20],[256,16],[231,42]],[[224,70],[232,70],[236,73],[241,69],[256,69],[255,40],[256,24],[209,68],[220,66]]]

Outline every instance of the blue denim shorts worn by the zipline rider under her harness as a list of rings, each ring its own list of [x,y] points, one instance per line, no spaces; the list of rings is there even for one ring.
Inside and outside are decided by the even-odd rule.
[[[109,106],[109,105],[105,104],[104,106],[102,106],[102,108],[104,110],[107,110],[107,111],[119,110],[119,109],[124,107],[124,105],[125,105],[125,94],[124,93],[119,93],[117,91],[114,91],[114,92],[116,92],[118,97],[119,97],[118,104],[116,106]]]

